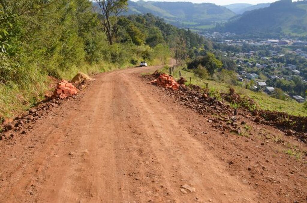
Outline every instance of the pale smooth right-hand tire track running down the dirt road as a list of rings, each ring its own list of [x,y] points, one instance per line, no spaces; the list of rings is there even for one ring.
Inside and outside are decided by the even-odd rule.
[[[130,81],[131,92],[137,96],[137,101],[133,103],[138,104],[138,108],[142,112],[143,116],[140,120],[146,121],[140,126],[148,126],[144,129],[146,131],[144,134],[149,134],[152,138],[151,147],[155,149],[153,153],[162,167],[162,176],[171,182],[169,186],[171,193],[175,197],[180,197],[176,201],[185,199],[179,188],[187,183],[200,189],[201,192],[196,192],[196,196],[202,200],[252,201],[251,197],[254,194],[246,190],[246,186],[243,186],[235,178],[231,178],[220,167],[221,163],[210,152],[205,151],[201,144],[180,126],[171,113],[161,107],[161,103],[143,96],[146,89],[139,88],[142,86],[142,82],[133,85],[131,80],[127,80],[127,78],[130,77],[122,76],[122,80]],[[135,81],[133,82],[135,83]],[[170,172],[173,174],[169,174]],[[187,195],[188,198],[185,200],[192,201],[192,196],[195,197],[195,194]]]

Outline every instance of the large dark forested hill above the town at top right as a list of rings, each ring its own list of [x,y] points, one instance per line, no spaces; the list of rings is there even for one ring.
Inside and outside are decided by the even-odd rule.
[[[307,1],[281,0],[269,7],[247,11],[235,16],[225,25],[224,31],[246,33],[307,34]]]

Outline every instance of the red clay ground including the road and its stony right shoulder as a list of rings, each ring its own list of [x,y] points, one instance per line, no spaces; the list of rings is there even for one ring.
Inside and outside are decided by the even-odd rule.
[[[215,114],[140,77],[156,69],[96,75],[26,133],[6,132],[0,202],[307,201],[305,143],[240,112],[244,134],[214,128]]]

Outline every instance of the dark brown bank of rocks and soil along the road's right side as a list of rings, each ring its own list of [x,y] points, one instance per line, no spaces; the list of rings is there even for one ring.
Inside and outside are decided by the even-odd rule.
[[[158,82],[159,78],[164,79],[165,76],[156,71],[154,74],[144,77],[150,81]],[[178,91],[166,91],[166,94],[177,98],[181,105],[207,115],[209,117],[208,122],[212,123],[212,127],[220,128],[223,131],[229,130],[230,132],[240,133],[240,125],[237,123],[239,117],[236,116],[240,114],[255,123],[275,126],[286,132],[287,135],[295,136],[303,142],[307,140],[307,117],[259,110],[255,101],[248,97],[240,97],[232,88],[229,93],[221,94],[222,101],[210,97],[210,92],[207,89],[192,84],[189,86],[181,85],[178,87]],[[238,104],[240,109],[231,108],[229,103]],[[212,117],[212,115],[216,116]],[[241,124],[243,125],[244,121]]]

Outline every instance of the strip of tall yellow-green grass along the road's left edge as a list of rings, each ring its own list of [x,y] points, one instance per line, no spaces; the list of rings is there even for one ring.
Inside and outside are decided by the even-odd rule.
[[[138,59],[141,61],[142,59]],[[152,59],[148,61],[149,65],[160,65],[161,61]],[[122,64],[110,63],[101,61],[99,63],[89,64],[86,62],[80,63],[79,66],[73,65],[66,70],[57,70],[59,79],[71,80],[78,72],[83,72],[87,75],[94,75],[118,69],[135,67],[129,62]],[[44,99],[45,92],[50,90],[50,78],[47,73],[39,71],[31,72],[31,79],[25,79],[22,84],[14,82],[0,83],[0,117],[13,117],[21,112],[33,107],[37,102]],[[27,78],[27,77],[25,77]]]

